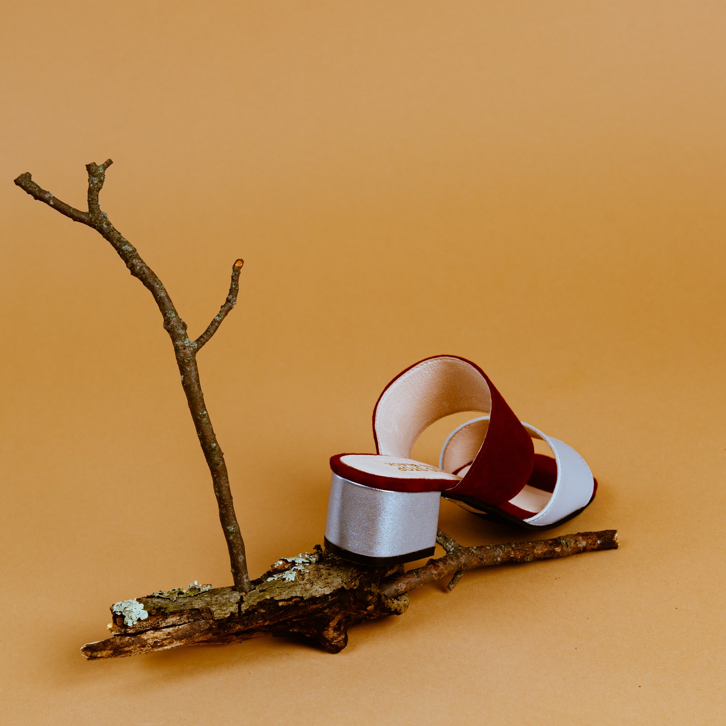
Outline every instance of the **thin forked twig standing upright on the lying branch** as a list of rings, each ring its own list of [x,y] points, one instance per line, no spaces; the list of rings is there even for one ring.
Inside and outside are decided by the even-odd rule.
[[[174,346],[174,356],[176,358],[176,364],[179,367],[179,373],[181,374],[181,387],[184,388],[184,394],[187,396],[187,404],[192,414],[197,437],[212,476],[214,494],[217,499],[217,506],[219,507],[219,521],[224,531],[224,538],[227,541],[229,561],[232,566],[234,587],[239,592],[248,592],[250,590],[250,579],[247,571],[245,543],[242,540],[240,526],[237,523],[237,516],[234,513],[232,492],[229,489],[227,464],[224,462],[224,454],[219,447],[219,442],[214,433],[204,401],[196,358],[197,351],[216,333],[224,317],[227,316],[227,313],[237,302],[242,260],[237,260],[232,266],[232,284],[229,287],[227,301],[221,307],[219,314],[214,317],[207,330],[197,340],[189,340],[187,323],[184,322],[176,311],[176,307],[174,307],[174,303],[171,301],[171,297],[166,287],[164,287],[163,282],[159,280],[150,266],[144,262],[134,245],[129,240],[126,240],[126,237],[123,237],[121,232],[118,232],[118,229],[111,224],[107,214],[101,210],[99,193],[106,179],[106,170],[112,163],[112,160],[107,159],[102,164],[86,164],[86,171],[89,177],[89,211],[87,212],[83,212],[62,202],[60,199],[54,197],[51,192],[39,187],[33,181],[29,172],[20,174],[15,179],[15,184],[27,192],[33,199],[49,205],[73,221],[86,224],[88,227],[95,229],[107,242],[110,242],[110,245],[126,264],[126,267],[129,268],[129,272],[140,280],[142,285],[152,294],[162,315],[164,330],[168,333],[171,338],[171,343]]]

